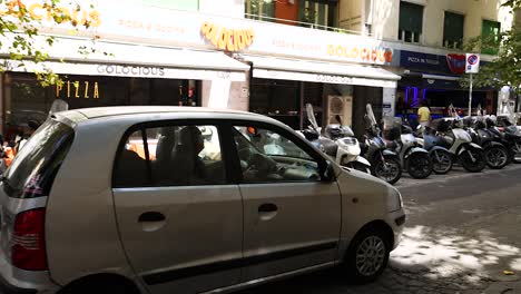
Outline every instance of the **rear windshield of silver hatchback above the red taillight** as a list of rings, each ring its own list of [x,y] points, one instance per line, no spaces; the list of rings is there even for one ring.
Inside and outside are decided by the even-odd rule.
[[[6,170],[3,190],[13,198],[48,196],[75,131],[48,119],[28,140]]]

